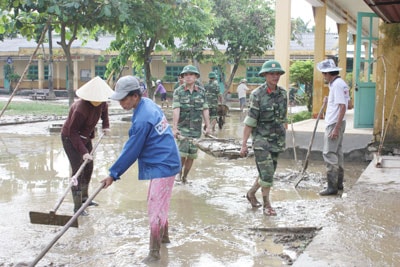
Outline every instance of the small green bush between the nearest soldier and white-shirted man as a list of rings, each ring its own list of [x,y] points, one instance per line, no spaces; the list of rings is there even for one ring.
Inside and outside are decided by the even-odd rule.
[[[304,84],[307,109],[312,111],[314,62],[312,60],[296,60],[290,65],[290,82]]]

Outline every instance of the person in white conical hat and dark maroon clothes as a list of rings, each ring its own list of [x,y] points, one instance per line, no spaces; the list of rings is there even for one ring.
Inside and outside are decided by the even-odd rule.
[[[61,130],[61,140],[65,153],[72,168],[72,175],[79,170],[82,163],[87,160],[82,173],[77,177],[77,185],[71,187],[74,201],[74,212],[77,212],[88,197],[89,183],[93,173],[92,139],[95,137],[95,127],[99,119],[102,120],[104,134],[110,133],[108,118],[108,98],[113,90],[100,77],[93,78],[80,89],[76,95],[80,97],[69,110],[68,117]],[[89,206],[97,206],[91,202]],[[87,216],[86,211],[82,216]]]

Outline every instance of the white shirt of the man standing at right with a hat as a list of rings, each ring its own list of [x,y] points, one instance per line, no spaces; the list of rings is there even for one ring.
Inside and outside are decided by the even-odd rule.
[[[326,126],[337,122],[339,116],[339,105],[346,105],[347,110],[349,100],[349,86],[342,78],[337,77],[329,83],[329,96],[325,114]]]

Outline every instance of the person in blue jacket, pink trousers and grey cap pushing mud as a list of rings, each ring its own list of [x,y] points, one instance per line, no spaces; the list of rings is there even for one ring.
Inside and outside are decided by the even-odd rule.
[[[138,160],[139,180],[150,180],[147,195],[150,251],[143,261],[157,261],[161,243],[169,243],[168,211],[175,175],[181,169],[178,147],[162,110],[152,100],[142,98],[136,77],[120,78],[111,99],[119,101],[125,110],[134,109],[134,113],[129,139],[102,182],[107,188]]]

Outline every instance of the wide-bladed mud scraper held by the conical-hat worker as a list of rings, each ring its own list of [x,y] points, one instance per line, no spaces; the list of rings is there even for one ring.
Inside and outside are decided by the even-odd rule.
[[[94,145],[92,151],[90,152],[90,155],[93,155],[93,153],[97,149],[98,145],[100,144],[100,141],[103,138],[103,136],[104,136],[104,133],[102,133],[99,136],[99,139],[97,140],[97,143]],[[75,175],[71,177],[71,182],[70,182],[68,188],[65,190],[64,194],[61,196],[60,200],[57,202],[57,204],[55,205],[53,210],[51,210],[49,213],[36,212],[36,211],[29,212],[29,218],[31,219],[31,223],[64,226],[72,218],[72,216],[68,216],[68,215],[58,215],[58,214],[56,214],[56,211],[60,207],[61,203],[63,202],[65,196],[68,194],[71,187],[73,185],[76,185],[78,176],[82,173],[83,169],[85,168],[85,166],[88,162],[89,162],[89,160],[85,160],[81,164],[81,166],[79,167],[79,169],[75,173]],[[78,220],[75,220],[71,226],[78,227]]]

